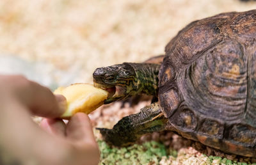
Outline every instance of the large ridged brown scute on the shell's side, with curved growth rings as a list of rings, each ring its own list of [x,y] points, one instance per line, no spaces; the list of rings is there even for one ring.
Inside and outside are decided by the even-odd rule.
[[[200,115],[241,120],[247,95],[246,58],[243,47],[234,41],[221,42],[205,52],[179,76],[186,104]]]

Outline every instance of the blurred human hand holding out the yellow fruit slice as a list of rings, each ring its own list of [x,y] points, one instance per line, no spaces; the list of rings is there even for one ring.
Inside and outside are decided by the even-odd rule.
[[[56,120],[65,98],[19,75],[0,75],[0,164],[97,164],[99,149],[86,114]],[[31,114],[43,116],[41,129]],[[45,131],[47,130],[47,131]],[[15,160],[15,162],[13,162]]]

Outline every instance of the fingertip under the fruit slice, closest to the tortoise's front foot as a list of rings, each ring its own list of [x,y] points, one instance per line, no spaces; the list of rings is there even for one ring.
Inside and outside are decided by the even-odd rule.
[[[67,124],[67,138],[73,141],[96,143],[89,117],[76,113]]]

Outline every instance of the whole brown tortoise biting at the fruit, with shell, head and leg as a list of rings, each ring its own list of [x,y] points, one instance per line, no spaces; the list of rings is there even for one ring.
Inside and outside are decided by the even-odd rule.
[[[93,83],[110,93],[105,104],[140,93],[158,98],[113,129],[115,146],[170,130],[223,152],[256,157],[256,10],[220,13],[191,22],[165,55],[145,63],[97,68]]]

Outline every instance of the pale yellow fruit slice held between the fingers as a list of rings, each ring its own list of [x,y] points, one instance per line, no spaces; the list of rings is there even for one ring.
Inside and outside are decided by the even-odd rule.
[[[67,98],[67,111],[61,115],[61,118],[70,118],[78,112],[89,114],[102,106],[108,97],[108,91],[95,88],[92,84],[72,84],[60,87],[54,91],[54,94]]]

